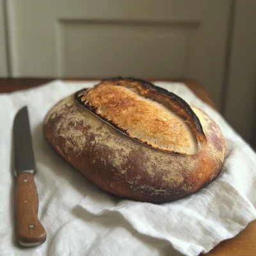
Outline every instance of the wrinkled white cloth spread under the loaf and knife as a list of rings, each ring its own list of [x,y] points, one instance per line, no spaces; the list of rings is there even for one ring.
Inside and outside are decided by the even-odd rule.
[[[118,199],[76,172],[48,145],[42,121],[58,100],[93,84],[57,80],[0,95],[0,255],[198,255],[256,218],[255,153],[184,84],[155,83],[204,109],[220,125],[227,154],[218,179],[186,198],[157,205]],[[15,239],[12,125],[25,105],[38,170],[38,218],[47,230],[47,241],[35,248],[20,248]]]

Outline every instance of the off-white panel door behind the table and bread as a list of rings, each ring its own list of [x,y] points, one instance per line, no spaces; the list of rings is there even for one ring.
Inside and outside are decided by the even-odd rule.
[[[220,105],[230,1],[8,1],[11,72],[194,77]]]

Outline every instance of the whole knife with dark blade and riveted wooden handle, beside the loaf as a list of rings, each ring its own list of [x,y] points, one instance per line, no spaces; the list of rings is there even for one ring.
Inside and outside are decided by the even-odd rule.
[[[46,232],[38,220],[38,194],[28,108],[20,109],[13,123],[14,172],[16,187],[16,231],[22,246],[38,246],[45,242]]]

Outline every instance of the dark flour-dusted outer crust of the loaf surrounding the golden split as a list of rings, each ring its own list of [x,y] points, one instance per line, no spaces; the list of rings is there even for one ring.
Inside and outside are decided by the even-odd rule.
[[[134,86],[141,95],[170,104],[185,116],[200,145],[198,152],[161,150],[131,138],[118,124],[100,116],[97,108],[83,98],[88,91],[81,90],[58,102],[44,120],[45,137],[68,163],[105,191],[141,202],[170,202],[218,177],[225,140],[204,111],[139,79],[117,77],[102,81],[100,86],[113,83]]]

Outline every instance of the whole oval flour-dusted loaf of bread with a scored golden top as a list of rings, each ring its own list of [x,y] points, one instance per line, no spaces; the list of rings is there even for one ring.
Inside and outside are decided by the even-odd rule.
[[[140,79],[103,80],[45,116],[51,146],[109,193],[170,202],[204,187],[223,166],[225,140],[204,111]]]

